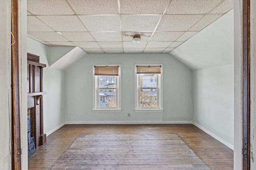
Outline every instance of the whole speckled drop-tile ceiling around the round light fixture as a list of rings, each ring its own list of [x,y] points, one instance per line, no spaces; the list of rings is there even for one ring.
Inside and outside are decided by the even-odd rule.
[[[87,53],[169,53],[232,8],[233,0],[27,0],[28,37]]]

